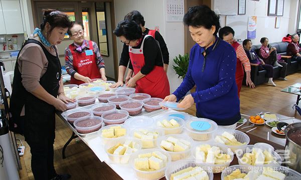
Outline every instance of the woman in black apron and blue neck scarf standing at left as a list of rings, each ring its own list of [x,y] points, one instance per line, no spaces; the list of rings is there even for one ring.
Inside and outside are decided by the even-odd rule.
[[[70,28],[68,16],[56,10],[44,10],[41,30],[27,40],[18,55],[13,82],[10,111],[19,132],[31,148],[31,165],[35,179],[68,179],[69,174],[57,174],[53,164],[55,139],[55,110],[65,111],[72,99],[64,95],[61,80],[61,64],[55,45],[64,39]],[[38,52],[38,53],[37,53]],[[43,61],[41,69],[35,67]],[[46,63],[45,63],[46,62]],[[29,71],[31,70],[31,71]],[[39,71],[36,82],[28,72]],[[31,83],[36,83],[29,90]]]

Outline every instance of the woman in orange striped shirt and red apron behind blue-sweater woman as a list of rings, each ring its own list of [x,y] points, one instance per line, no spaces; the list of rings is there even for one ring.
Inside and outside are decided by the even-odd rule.
[[[244,76],[243,67],[244,67],[244,71],[246,72],[246,85],[250,86],[250,88],[255,88],[255,85],[251,80],[251,74],[250,74],[251,65],[246,53],[243,50],[243,47],[234,40],[234,30],[231,27],[225,26],[224,28],[219,30],[218,34],[220,39],[226,41],[227,43],[232,45],[232,47],[235,49],[236,59],[237,59],[235,81],[236,81],[236,85],[238,89],[238,97],[239,97],[242,80]]]

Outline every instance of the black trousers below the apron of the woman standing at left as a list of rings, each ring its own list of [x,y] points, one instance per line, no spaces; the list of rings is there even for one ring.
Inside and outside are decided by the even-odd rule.
[[[53,139],[28,142],[32,154],[32,171],[36,180],[48,180],[57,175],[53,164],[53,143]]]

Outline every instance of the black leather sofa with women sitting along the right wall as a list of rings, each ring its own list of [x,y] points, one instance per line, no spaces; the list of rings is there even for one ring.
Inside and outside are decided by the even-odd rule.
[[[291,61],[290,56],[286,56],[286,47],[288,45],[287,42],[276,42],[276,43],[270,43],[271,47],[275,47],[277,49],[277,54],[281,55],[281,59],[284,60],[287,63],[287,71],[286,75],[295,73],[299,70],[301,70],[301,66],[298,65],[297,61]],[[254,50],[257,55],[259,55],[259,48],[260,45],[254,45],[252,46],[252,50]],[[273,67],[273,79],[277,79],[280,77],[280,67]],[[243,80],[243,84],[246,83],[245,76]],[[268,78],[266,77],[266,70],[259,71],[257,64],[251,64],[251,80],[255,84],[255,86],[259,84],[263,84],[268,82]]]

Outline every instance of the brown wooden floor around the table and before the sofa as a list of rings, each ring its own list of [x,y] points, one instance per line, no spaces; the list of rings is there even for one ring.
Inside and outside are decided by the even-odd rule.
[[[255,89],[246,86],[242,87],[240,93],[240,109],[244,114],[255,114],[261,111],[271,111],[289,117],[301,118],[291,107],[296,101],[296,95],[280,92],[281,89],[301,82],[301,73],[294,73],[287,76],[288,81],[274,80],[276,87],[265,84]],[[226,106],[227,104],[225,104]],[[190,108],[188,113],[195,115],[195,106]],[[74,140],[66,150],[66,159],[62,159],[62,148],[71,136],[72,131],[62,122],[56,120],[56,139],[54,144],[54,161],[58,173],[69,173],[71,179],[121,179],[109,166],[94,155],[85,143],[75,143]],[[22,136],[18,136],[24,139]],[[21,157],[22,167],[20,170],[21,179],[34,179],[31,171],[30,148],[26,142],[25,154]]]

